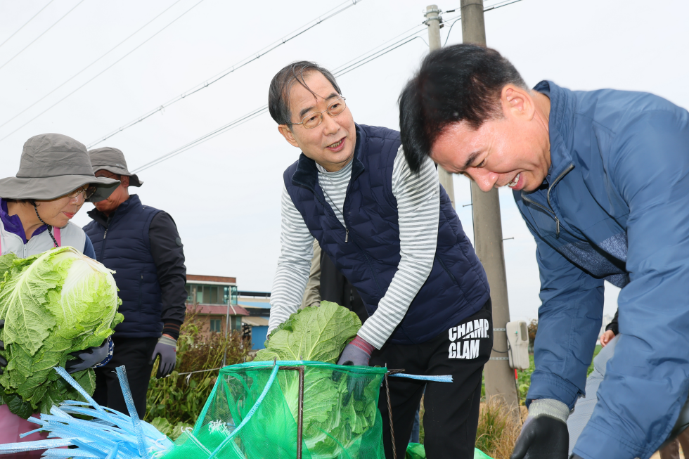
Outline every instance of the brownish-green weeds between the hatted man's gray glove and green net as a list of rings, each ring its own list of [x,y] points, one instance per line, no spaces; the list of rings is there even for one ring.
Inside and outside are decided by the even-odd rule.
[[[240,363],[250,351],[250,342],[245,342],[238,332],[232,332],[228,337],[224,333],[203,333],[201,325],[197,311],[188,312],[177,340],[174,371],[158,380],[155,378],[157,367],[153,368],[144,420],[151,422],[163,418],[175,429],[181,424],[193,425],[217,380],[224,349],[227,351],[227,365]],[[179,375],[200,370],[214,371]]]

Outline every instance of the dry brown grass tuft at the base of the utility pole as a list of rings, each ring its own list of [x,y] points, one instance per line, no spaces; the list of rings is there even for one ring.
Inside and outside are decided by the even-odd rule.
[[[476,431],[476,448],[491,458],[509,459],[522,429],[521,410],[510,408],[504,399],[491,397],[481,403]]]

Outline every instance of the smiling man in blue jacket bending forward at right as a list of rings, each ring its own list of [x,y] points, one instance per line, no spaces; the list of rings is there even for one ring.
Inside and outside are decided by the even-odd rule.
[[[412,169],[430,155],[509,186],[536,238],[536,370],[512,457],[567,457],[604,280],[622,287],[620,336],[574,455],[650,457],[689,392],[689,113],[649,93],[529,90],[497,51],[458,45],[425,58],[400,120]]]

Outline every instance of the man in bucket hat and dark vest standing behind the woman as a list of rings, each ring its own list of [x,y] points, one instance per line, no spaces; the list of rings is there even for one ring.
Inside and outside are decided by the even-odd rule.
[[[141,186],[130,174],[117,148],[90,150],[96,177],[119,180],[108,199],[96,202],[84,226],[94,243],[96,259],[115,271],[124,321],[115,328],[115,353],[108,365],[96,370],[94,399],[123,413],[127,407],[115,368],[124,365],[139,416],[146,413],[146,392],[155,359],[156,373],[172,373],[179,328],[186,312],[186,267],[177,227],[162,210],[142,205],[129,186]]]

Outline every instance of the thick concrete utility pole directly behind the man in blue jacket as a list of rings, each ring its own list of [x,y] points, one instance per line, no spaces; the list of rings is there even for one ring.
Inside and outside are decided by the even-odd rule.
[[[462,41],[486,46],[486,25],[483,0],[461,0]],[[517,406],[515,373],[510,368],[507,351],[506,325],[510,321],[507,297],[503,227],[500,219],[500,198],[493,188],[484,193],[471,182],[471,201],[474,216],[474,245],[491,286],[493,302],[493,349],[484,368],[486,396],[502,396],[508,406]],[[496,352],[498,351],[502,352]]]

